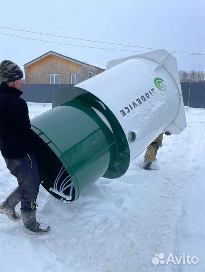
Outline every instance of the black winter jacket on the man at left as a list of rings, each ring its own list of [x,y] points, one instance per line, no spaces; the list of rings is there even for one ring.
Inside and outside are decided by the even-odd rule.
[[[6,159],[24,157],[34,149],[36,134],[21,95],[20,90],[0,85],[0,151]]]

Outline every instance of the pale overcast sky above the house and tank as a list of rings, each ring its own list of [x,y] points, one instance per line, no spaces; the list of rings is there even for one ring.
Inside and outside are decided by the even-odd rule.
[[[4,34],[104,50],[29,40],[0,34],[0,61],[23,65],[52,50],[80,61],[107,61],[152,49],[88,42],[126,44],[205,54],[204,0],[7,0],[1,1]],[[6,28],[76,39],[40,35]],[[130,50],[130,51],[119,51]],[[178,69],[205,70],[205,57],[173,54]]]

